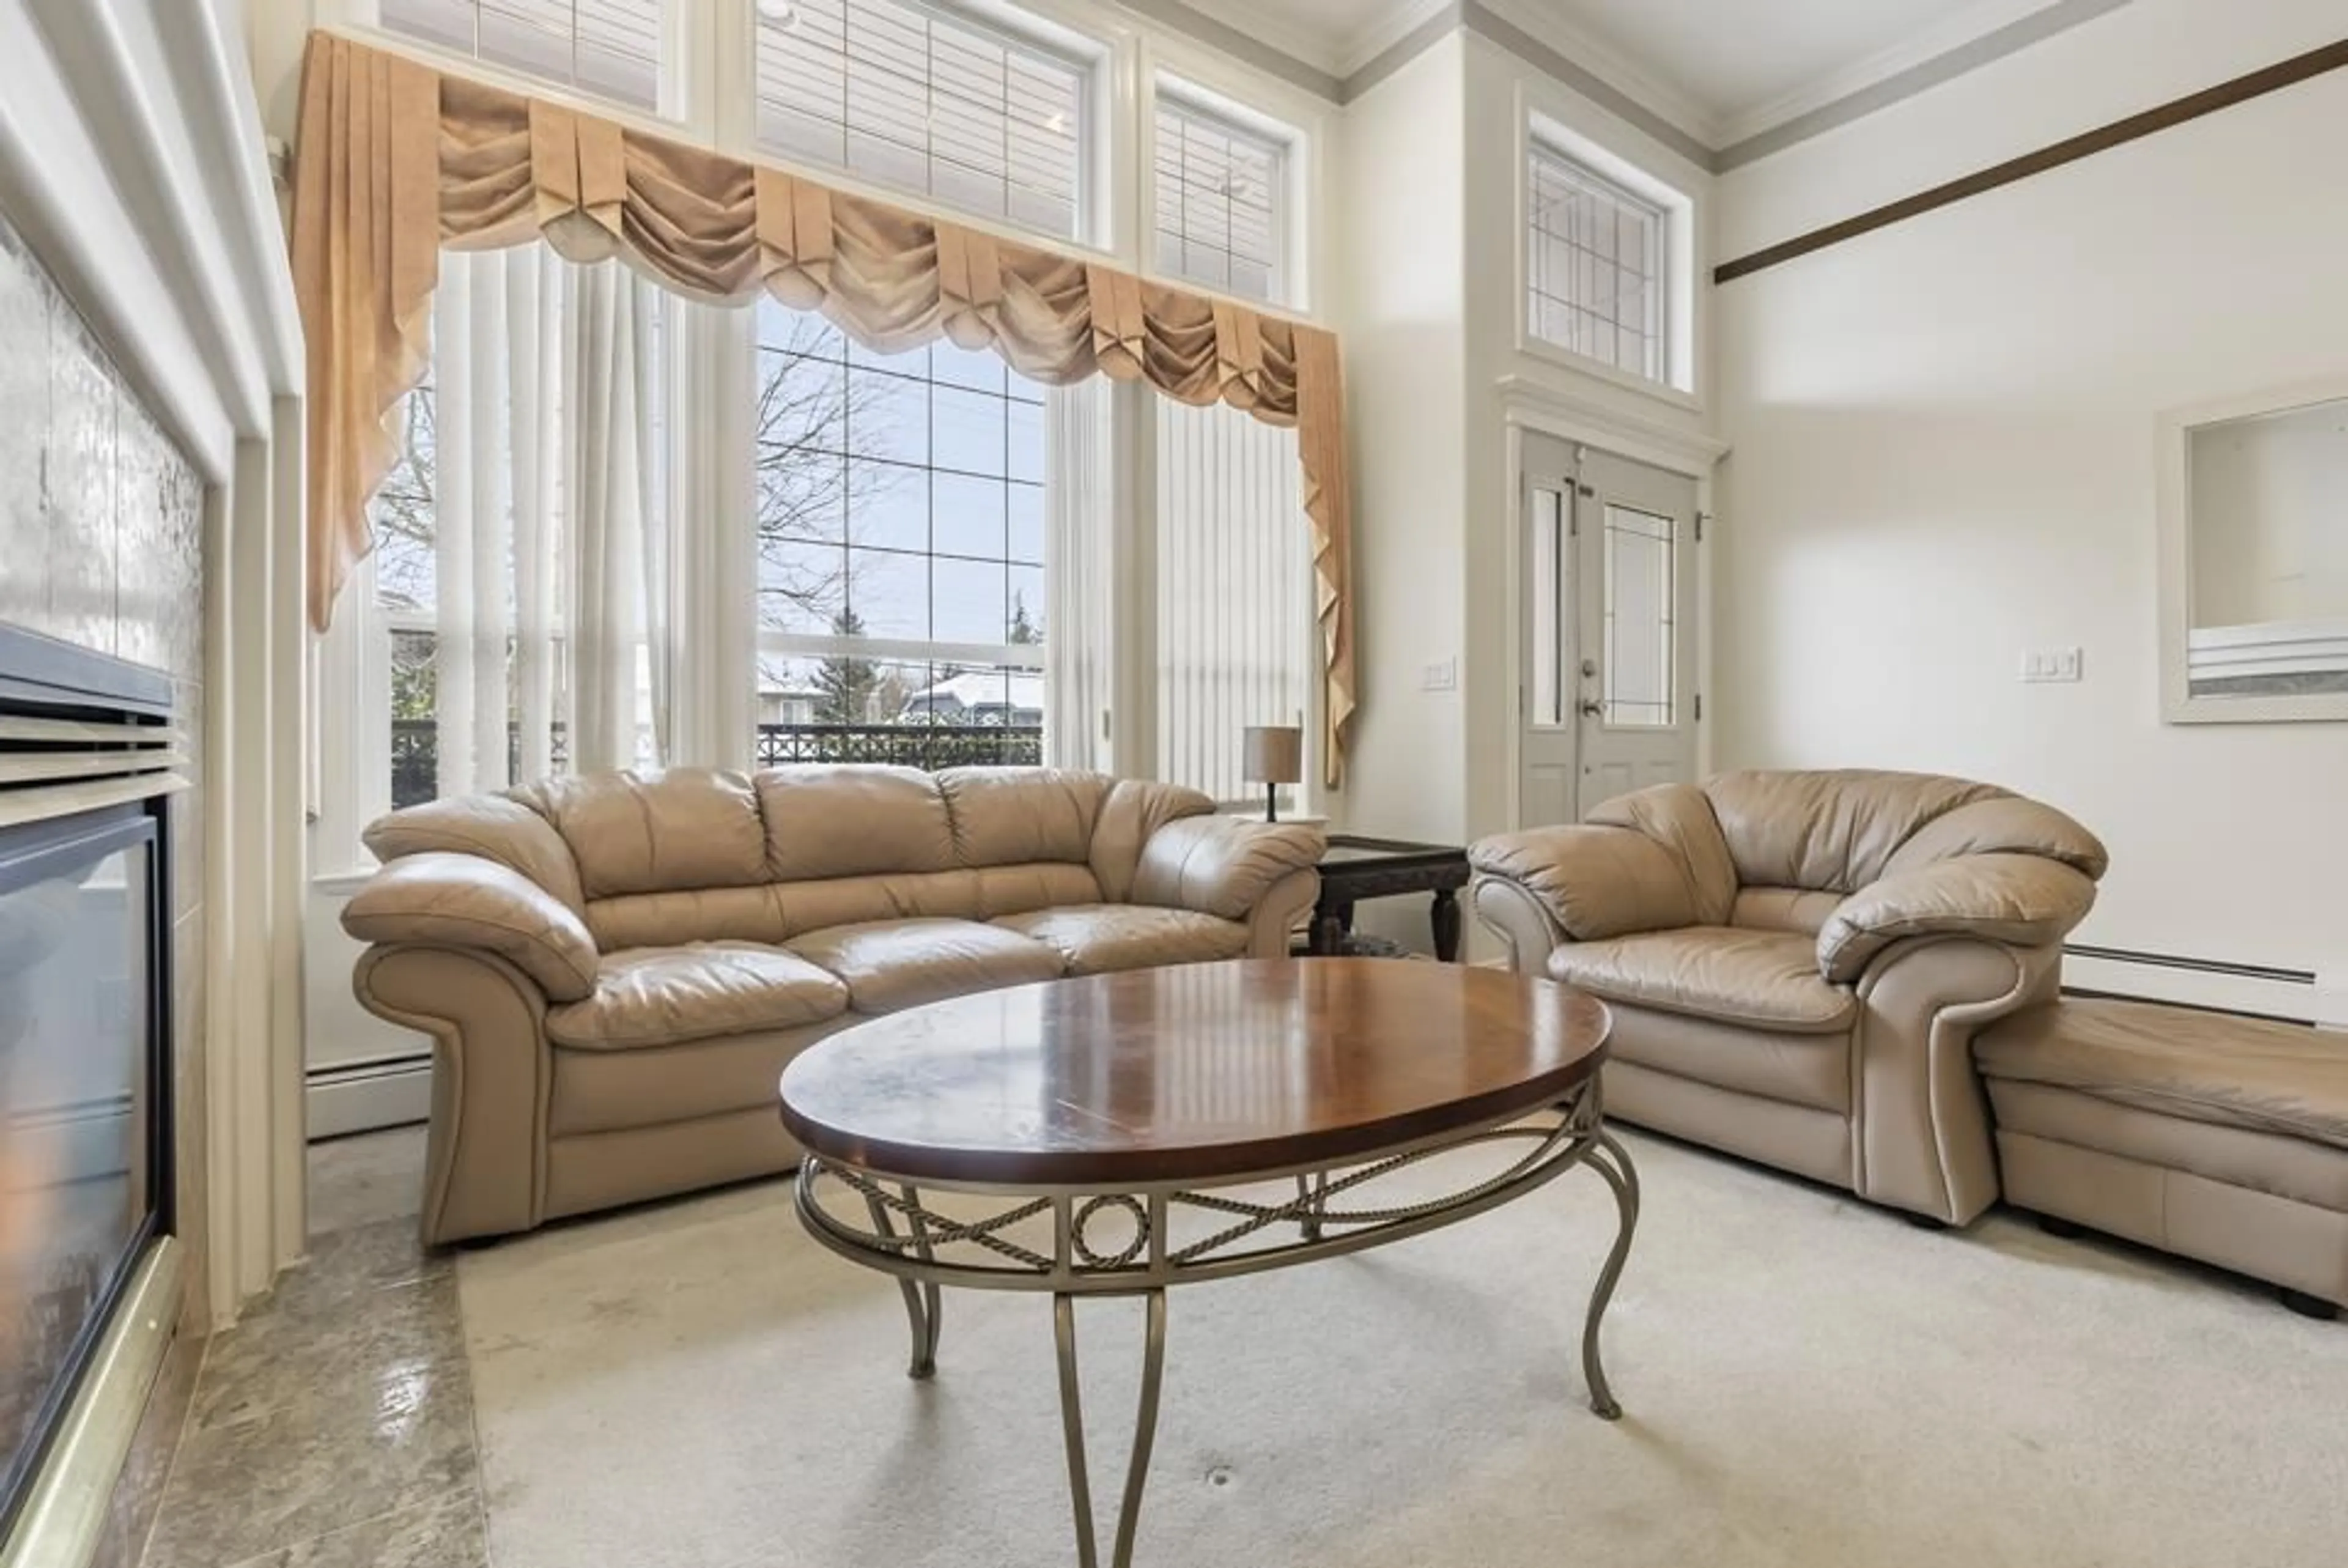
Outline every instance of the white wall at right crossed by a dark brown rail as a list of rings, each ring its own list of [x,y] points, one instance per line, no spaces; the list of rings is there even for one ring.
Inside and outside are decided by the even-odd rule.
[[[2339,0],[2137,0],[1721,178],[1738,256],[2332,42]],[[2348,73],[1723,286],[1719,746],[2043,796],[2080,939],[2348,960],[2348,725],[2160,723],[2153,420],[2348,357]],[[2085,648],[2022,685],[2026,648]]]

